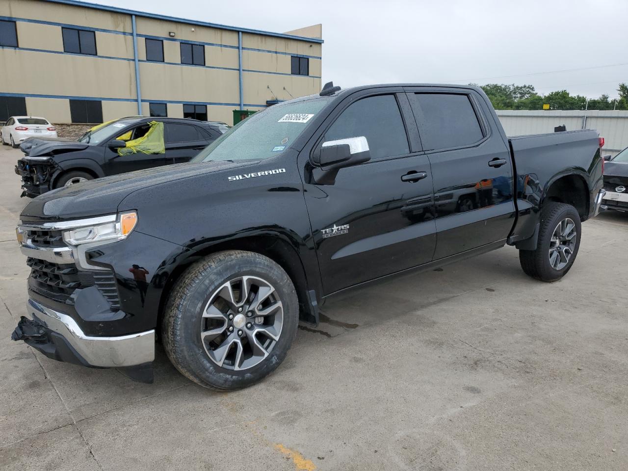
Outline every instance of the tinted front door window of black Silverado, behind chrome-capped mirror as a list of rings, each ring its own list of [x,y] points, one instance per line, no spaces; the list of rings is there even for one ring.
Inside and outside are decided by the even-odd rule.
[[[364,136],[371,158],[409,153],[406,129],[393,95],[363,98],[351,104],[325,133],[325,141]]]

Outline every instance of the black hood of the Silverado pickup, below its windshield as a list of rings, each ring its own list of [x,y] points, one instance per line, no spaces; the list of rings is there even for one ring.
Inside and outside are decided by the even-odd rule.
[[[20,217],[27,222],[112,214],[117,212],[119,203],[136,190],[250,164],[251,161],[180,163],[105,176],[44,193],[31,200]]]

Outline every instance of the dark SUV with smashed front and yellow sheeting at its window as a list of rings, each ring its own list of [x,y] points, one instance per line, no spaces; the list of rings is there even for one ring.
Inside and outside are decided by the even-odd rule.
[[[155,127],[151,123],[161,129],[152,132],[154,145],[146,146],[142,139]],[[222,133],[219,125],[195,119],[124,117],[78,139],[26,139],[15,173],[22,177],[21,196],[34,198],[102,176],[187,162]]]

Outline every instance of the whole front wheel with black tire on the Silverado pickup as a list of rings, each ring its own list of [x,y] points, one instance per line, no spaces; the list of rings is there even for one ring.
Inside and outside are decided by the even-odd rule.
[[[262,291],[262,281],[274,291],[266,287]],[[242,290],[243,283],[251,286]],[[255,295],[254,283],[259,284]],[[242,291],[248,294],[244,301]],[[259,293],[264,293],[260,304],[265,317],[256,316]],[[227,303],[227,298],[234,303]],[[274,315],[268,315],[271,312]],[[190,266],[176,282],[163,315],[162,340],[183,376],[209,389],[231,391],[255,384],[281,364],[296,337],[298,317],[295,287],[278,264],[254,252],[217,252]],[[281,327],[276,328],[278,319]],[[202,332],[207,335],[204,340]]]

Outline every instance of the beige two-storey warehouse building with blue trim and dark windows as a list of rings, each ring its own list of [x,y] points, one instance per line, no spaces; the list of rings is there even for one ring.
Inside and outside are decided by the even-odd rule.
[[[235,6],[234,8],[237,8]],[[73,0],[0,1],[0,121],[233,122],[321,89],[322,26],[250,30]]]

